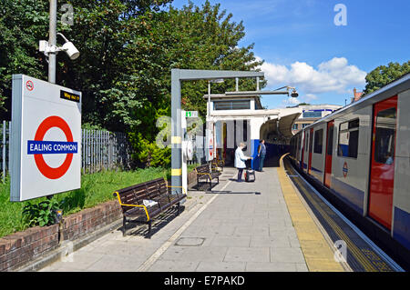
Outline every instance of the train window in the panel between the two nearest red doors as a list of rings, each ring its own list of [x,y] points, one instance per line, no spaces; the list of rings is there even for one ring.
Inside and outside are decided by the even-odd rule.
[[[337,155],[357,158],[359,148],[359,119],[339,125]]]

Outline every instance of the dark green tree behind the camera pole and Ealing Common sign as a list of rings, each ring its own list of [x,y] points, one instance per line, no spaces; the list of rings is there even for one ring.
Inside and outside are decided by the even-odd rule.
[[[1,0],[0,109],[10,119],[11,75],[46,79],[46,57],[38,41],[48,37],[48,1]],[[138,34],[138,17],[158,12],[171,0],[72,0],[74,25],[60,21],[57,31],[77,46],[80,57],[57,56],[56,82],[83,92],[83,122],[125,131],[139,123],[132,110],[140,105],[136,75],[127,70],[125,47]],[[62,11],[57,10],[57,19]],[[57,39],[57,41],[61,41]],[[138,59],[136,60],[138,61]]]

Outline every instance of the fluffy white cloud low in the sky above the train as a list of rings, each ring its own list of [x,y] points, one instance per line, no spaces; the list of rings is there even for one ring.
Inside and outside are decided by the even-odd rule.
[[[260,58],[259,58],[260,59]],[[262,72],[270,86],[292,85],[302,91],[307,100],[315,94],[337,92],[350,94],[353,86],[364,86],[366,73],[355,65],[349,65],[344,57],[334,57],[314,68],[304,62],[292,65],[276,65],[265,62]]]

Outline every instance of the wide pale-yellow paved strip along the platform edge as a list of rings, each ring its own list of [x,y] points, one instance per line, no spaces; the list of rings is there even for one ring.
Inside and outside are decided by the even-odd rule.
[[[283,166],[284,156],[281,158],[280,167],[277,168],[279,181],[309,271],[344,272],[343,266],[334,260],[333,248],[326,242],[286,175]]]

